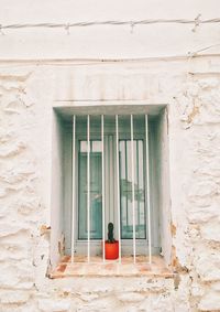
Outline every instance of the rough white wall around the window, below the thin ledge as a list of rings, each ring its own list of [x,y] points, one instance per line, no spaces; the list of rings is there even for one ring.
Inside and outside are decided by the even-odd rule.
[[[220,310],[220,76],[213,73],[219,60],[200,62],[191,61],[193,69],[205,69],[194,75],[186,75],[184,61],[88,66],[82,82],[73,66],[63,84],[61,65],[0,69],[1,311]],[[61,87],[69,86],[69,73],[85,98],[90,90],[98,99],[117,93],[119,99],[168,103],[174,279],[46,277],[52,106],[65,94]]]

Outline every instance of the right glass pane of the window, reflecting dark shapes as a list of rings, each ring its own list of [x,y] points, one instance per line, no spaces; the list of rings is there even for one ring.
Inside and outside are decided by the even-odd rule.
[[[140,239],[146,237],[143,140],[133,141],[133,151],[135,236],[138,239]],[[131,140],[119,141],[119,157],[121,191],[121,238],[131,239],[133,238]]]

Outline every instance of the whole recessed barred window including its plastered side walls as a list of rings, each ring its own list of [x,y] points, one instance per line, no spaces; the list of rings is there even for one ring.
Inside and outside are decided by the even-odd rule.
[[[166,109],[80,104],[54,117],[53,268],[64,255],[102,261],[109,222],[122,263],[134,254],[146,261],[150,252],[170,263]]]

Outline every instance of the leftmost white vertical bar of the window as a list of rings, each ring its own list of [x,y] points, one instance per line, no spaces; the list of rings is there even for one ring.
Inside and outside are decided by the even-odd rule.
[[[76,116],[73,118],[73,173],[72,173],[72,262],[74,262],[75,244],[75,179],[76,179]]]

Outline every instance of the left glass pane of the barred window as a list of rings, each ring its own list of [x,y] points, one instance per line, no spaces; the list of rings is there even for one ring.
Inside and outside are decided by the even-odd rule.
[[[87,141],[79,144],[79,239],[87,239]],[[102,230],[101,142],[90,141],[90,238],[100,239]]]

